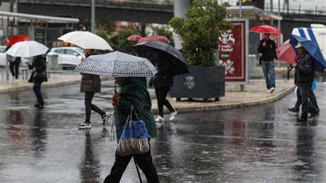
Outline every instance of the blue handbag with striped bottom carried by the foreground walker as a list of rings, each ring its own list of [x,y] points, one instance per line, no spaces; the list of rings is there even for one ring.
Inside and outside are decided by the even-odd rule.
[[[137,120],[133,120],[133,112]],[[122,133],[118,142],[118,155],[143,154],[149,151],[149,135],[144,121],[140,120],[135,109],[131,105],[131,113],[127,122],[122,127]]]

